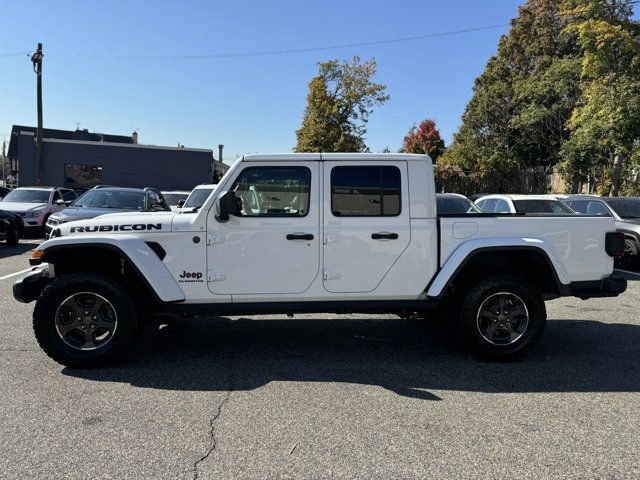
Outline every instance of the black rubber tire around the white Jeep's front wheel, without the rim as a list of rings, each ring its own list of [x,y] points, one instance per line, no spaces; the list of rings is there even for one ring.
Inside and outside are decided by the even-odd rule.
[[[58,307],[80,292],[103,297],[117,315],[117,328],[110,341],[95,350],[72,348],[56,328]],[[42,291],[33,312],[33,330],[40,347],[56,362],[73,368],[94,368],[121,360],[140,336],[141,322],[135,303],[117,282],[96,273],[72,273],[54,280]]]

